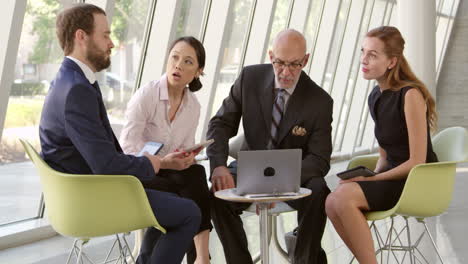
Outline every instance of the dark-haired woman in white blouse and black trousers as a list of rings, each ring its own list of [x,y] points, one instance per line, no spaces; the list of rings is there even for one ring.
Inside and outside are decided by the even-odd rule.
[[[159,80],[138,89],[127,105],[127,122],[120,136],[126,153],[138,153],[148,141],[164,143],[159,152],[161,156],[175,150],[183,151],[195,144],[200,103],[193,92],[202,87],[199,77],[204,66],[205,49],[200,41],[194,37],[181,37],[173,42],[166,73]],[[208,239],[213,227],[203,166],[193,164],[183,171],[160,170],[154,180],[143,182],[143,185],[172,192],[197,203],[202,221],[187,260],[188,263],[209,263]],[[151,255],[154,245],[151,243],[156,243],[159,235],[153,230],[146,233],[140,256]]]

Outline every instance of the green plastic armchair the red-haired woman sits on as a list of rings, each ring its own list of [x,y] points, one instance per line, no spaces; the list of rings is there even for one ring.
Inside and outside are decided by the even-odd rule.
[[[457,163],[465,162],[468,159],[467,130],[463,127],[447,128],[432,139],[432,144],[439,162],[415,166],[410,171],[401,197],[393,208],[365,214],[367,220],[372,221],[369,228],[373,229],[375,233],[378,244],[376,255],[380,254],[380,263],[383,263],[382,251],[384,250],[388,251],[387,263],[389,263],[390,255],[397,263],[403,263],[407,255],[410,263],[416,263],[416,261],[429,263],[418,249],[425,234],[429,236],[440,262],[443,263],[425,218],[444,213],[452,200]],[[363,165],[375,169],[377,159],[378,155],[358,156],[349,162],[348,168]],[[405,225],[400,231],[397,231],[394,226],[394,217],[396,216],[402,216],[405,221]],[[390,229],[384,239],[375,221],[389,217],[391,220]],[[416,240],[412,240],[410,235],[409,218],[415,218],[418,223],[424,225],[424,231]],[[402,238],[404,235],[406,235],[406,243]],[[401,262],[395,254],[396,251],[404,252]],[[354,257],[351,262],[353,260]]]

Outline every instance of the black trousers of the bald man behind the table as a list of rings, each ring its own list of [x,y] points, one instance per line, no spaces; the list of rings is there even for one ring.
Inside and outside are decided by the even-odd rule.
[[[235,176],[236,168],[229,168]],[[288,201],[298,211],[298,229],[294,264],[325,264],[327,257],[321,247],[326,224],[325,199],[330,193],[323,178],[312,178],[303,188],[312,190],[310,196]],[[211,217],[223,244],[227,264],[249,264],[252,256],[247,247],[247,237],[240,214],[250,203],[237,203],[212,197]]]

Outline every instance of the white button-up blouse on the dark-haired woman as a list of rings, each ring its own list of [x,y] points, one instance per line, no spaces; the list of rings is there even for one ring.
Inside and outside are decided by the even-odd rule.
[[[152,81],[137,90],[127,104],[126,123],[120,144],[127,154],[136,154],[147,141],[164,143],[159,155],[195,144],[195,131],[200,117],[200,103],[186,88],[174,120],[169,119],[167,77]]]

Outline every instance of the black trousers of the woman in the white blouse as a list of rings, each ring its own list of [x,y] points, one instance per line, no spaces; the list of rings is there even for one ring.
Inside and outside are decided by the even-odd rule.
[[[158,191],[175,193],[180,197],[193,200],[200,208],[202,215],[198,233],[204,230],[211,231],[213,228],[210,210],[211,195],[203,166],[194,164],[182,171],[160,170],[152,181],[143,182],[143,186]],[[159,230],[154,229],[149,232],[145,235],[145,243],[148,247],[142,248],[140,254],[151,254],[150,250],[156,245],[161,236]],[[194,263],[196,258],[195,244],[192,241],[192,245],[187,251],[187,263]]]

